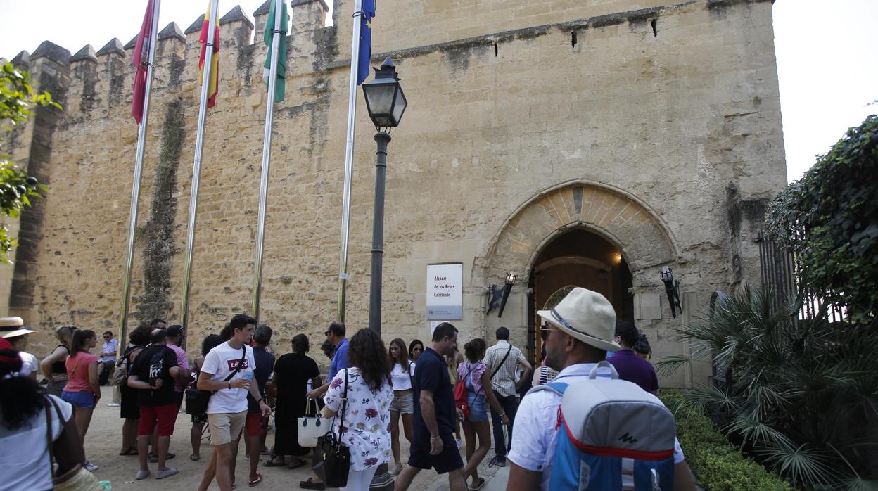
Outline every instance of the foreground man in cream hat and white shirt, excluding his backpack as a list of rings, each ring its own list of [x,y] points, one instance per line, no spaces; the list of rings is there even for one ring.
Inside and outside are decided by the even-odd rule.
[[[559,372],[557,381],[572,384],[587,379],[594,365],[605,359],[607,351],[621,348],[613,341],[615,309],[600,293],[574,288],[557,307],[536,314],[548,322],[543,328],[546,365]],[[608,374],[602,373],[605,377]],[[560,405],[561,396],[551,391],[522,398],[508,456],[512,468],[507,491],[549,489]],[[674,490],[694,490],[683,451],[676,441],[673,461]]]

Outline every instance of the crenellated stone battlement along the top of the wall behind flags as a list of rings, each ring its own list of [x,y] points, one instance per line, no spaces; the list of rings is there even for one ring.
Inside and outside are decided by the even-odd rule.
[[[256,81],[261,81],[265,54],[262,32],[269,7],[270,3],[266,1],[253,12],[255,23],[244,14],[240,5],[235,5],[219,18],[219,77],[222,91],[254,83],[254,76]],[[335,56],[337,49],[327,44],[326,36],[315,33],[326,28],[327,11],[327,4],[323,0],[296,0],[291,3],[292,22],[288,44],[296,47],[296,53],[308,51],[315,59],[327,61]],[[203,15],[198,16],[185,29],[176,22],[170,22],[158,32],[153,83],[157,92],[154,97],[163,97],[163,90],[185,92],[191,89],[187,83],[191,85],[198,80],[198,54],[201,48],[198,37],[203,19]],[[12,63],[22,69],[32,70],[35,61],[46,58],[67,66],[69,93],[65,119],[68,123],[75,123],[128,110],[126,104],[122,103],[131,100],[134,73],[131,60],[136,43],[137,36],[126,44],[113,38],[97,51],[92,45],[86,45],[71,55],[68,49],[46,40],[32,54],[26,51],[19,53]],[[293,61],[288,59],[287,62],[291,67]],[[322,65],[326,67],[329,64]],[[305,76],[303,71],[313,69],[320,67],[309,63],[299,70],[291,70],[290,77]]]

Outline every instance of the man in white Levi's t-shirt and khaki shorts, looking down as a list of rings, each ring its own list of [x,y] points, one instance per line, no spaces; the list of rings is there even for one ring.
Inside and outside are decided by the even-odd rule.
[[[215,391],[207,404],[207,422],[211,429],[213,453],[198,489],[205,490],[216,477],[222,491],[230,491],[234,480],[234,461],[238,442],[247,421],[247,394],[259,401],[263,415],[271,408],[253,380],[255,360],[248,344],[253,340],[256,321],[245,314],[236,314],[220,337],[228,339],[205,356],[198,376],[198,389]]]

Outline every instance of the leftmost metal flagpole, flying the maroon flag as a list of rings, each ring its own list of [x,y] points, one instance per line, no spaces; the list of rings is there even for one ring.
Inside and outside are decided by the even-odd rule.
[[[155,59],[155,41],[158,37],[159,10],[162,8],[162,0],[155,0],[153,4],[153,24],[149,29],[149,54],[147,57],[147,83],[143,94],[143,112],[140,117],[140,127],[137,130],[137,152],[134,155],[134,183],[131,188],[131,213],[128,215],[128,249],[125,260],[125,277],[122,280],[122,308],[119,316],[119,339],[120,343],[126,343],[126,331],[128,328],[128,301],[131,295],[131,270],[134,262],[134,231],[137,227],[137,207],[140,201],[140,177],[143,175],[143,153],[147,140],[147,122],[149,119],[150,90],[153,85],[153,60]]]

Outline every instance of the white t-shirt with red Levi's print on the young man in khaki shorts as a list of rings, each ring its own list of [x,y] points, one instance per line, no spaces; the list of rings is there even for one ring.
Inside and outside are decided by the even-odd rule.
[[[253,367],[255,367],[256,363],[253,358],[253,348],[247,345],[242,346],[242,348],[247,350],[244,364],[241,366],[241,370],[235,373],[234,377],[229,379],[229,381],[248,378],[255,384]],[[242,353],[241,348],[233,348],[229,343],[222,343],[207,353],[205,364],[201,365],[201,372],[212,373],[211,380],[221,382],[228,377],[229,373],[234,372],[235,368],[241,363]],[[248,389],[219,389],[213,393],[211,401],[207,403],[207,414],[216,415],[246,411],[247,393]]]

